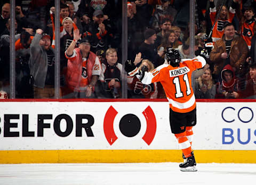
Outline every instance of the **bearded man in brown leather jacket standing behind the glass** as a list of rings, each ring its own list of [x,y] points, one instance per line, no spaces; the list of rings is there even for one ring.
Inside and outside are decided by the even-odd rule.
[[[232,23],[227,23],[223,27],[224,34],[221,39],[214,43],[214,48],[210,53],[210,65],[213,66],[213,78],[217,82],[221,80],[221,71],[224,66],[230,64],[235,71],[235,76],[240,79],[247,73],[246,57],[249,53],[244,39],[235,34]]]

